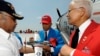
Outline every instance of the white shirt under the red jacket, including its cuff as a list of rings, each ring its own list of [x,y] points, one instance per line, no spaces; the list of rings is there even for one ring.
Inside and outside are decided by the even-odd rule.
[[[85,21],[85,22],[79,27],[80,32],[79,32],[78,43],[79,43],[79,41],[80,41],[80,39],[81,39],[81,37],[82,37],[84,31],[85,31],[86,28],[90,25],[90,23],[91,23],[91,20],[88,19],[87,21]],[[75,52],[75,49],[70,53],[70,56],[73,56],[73,53],[74,53],[74,52]]]

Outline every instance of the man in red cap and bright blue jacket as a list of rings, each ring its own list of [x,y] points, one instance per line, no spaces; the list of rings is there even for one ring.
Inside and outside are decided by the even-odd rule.
[[[43,46],[43,50],[52,53],[51,56],[58,56],[64,40],[58,30],[51,28],[52,20],[49,15],[44,15],[41,20],[43,30],[39,31],[41,41],[49,41],[52,47]],[[45,56],[45,55],[44,55]]]

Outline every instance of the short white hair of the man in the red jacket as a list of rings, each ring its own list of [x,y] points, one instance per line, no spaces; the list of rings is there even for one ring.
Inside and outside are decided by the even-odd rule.
[[[91,0],[72,0],[71,3],[74,3],[78,8],[83,7],[86,9],[86,12],[89,16],[92,14],[92,1]]]

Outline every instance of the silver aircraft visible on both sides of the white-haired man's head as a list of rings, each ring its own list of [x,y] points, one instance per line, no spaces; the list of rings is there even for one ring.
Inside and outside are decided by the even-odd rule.
[[[91,18],[100,23],[100,0],[91,1],[93,2],[93,13]],[[65,43],[69,43],[69,36],[71,32],[75,29],[75,27],[68,23],[68,19],[66,17],[67,12],[61,15],[59,9],[57,8],[57,13],[59,16],[56,23],[57,29],[61,32]]]

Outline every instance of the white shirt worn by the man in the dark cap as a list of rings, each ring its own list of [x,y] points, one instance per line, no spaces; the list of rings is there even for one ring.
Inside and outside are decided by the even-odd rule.
[[[17,41],[13,35],[0,28],[0,56],[20,56]]]

